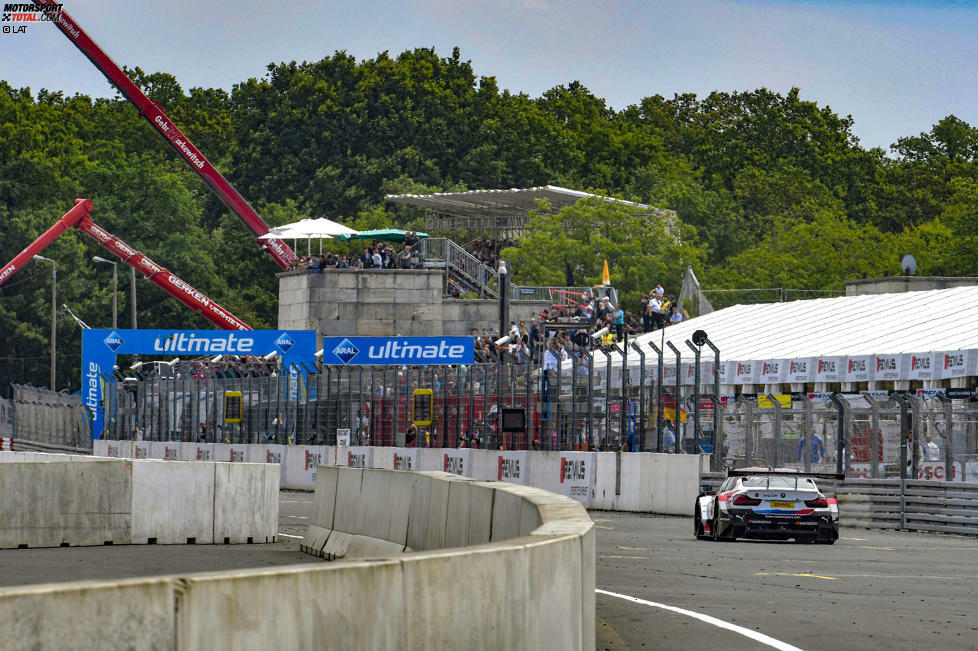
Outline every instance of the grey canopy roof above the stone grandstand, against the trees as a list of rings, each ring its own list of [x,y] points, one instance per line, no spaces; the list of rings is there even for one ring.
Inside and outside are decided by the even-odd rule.
[[[537,199],[547,199],[555,210],[572,206],[585,197],[600,195],[568,190],[554,185],[511,190],[471,190],[469,192],[439,192],[436,194],[389,194],[387,201],[427,208],[436,213],[456,217],[523,218],[537,207]],[[645,204],[602,197],[608,201],[636,206],[649,211],[658,210]]]

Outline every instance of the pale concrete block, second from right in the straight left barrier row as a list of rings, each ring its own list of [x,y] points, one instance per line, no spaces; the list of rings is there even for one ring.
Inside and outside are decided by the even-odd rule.
[[[132,542],[214,542],[214,469],[190,461],[132,461]]]

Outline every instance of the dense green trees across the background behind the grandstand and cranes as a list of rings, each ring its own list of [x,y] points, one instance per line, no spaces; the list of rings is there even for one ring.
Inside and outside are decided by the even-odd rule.
[[[603,200],[541,209],[505,252],[526,284],[563,285],[568,268],[591,284],[607,259],[626,307],[657,281],[678,289],[686,264],[712,288],[837,289],[898,273],[904,253],[920,273],[978,273],[978,129],[953,115],[867,150],[851,117],[799,89],[654,95],[616,111],[579,82],[539,97],[500,89],[458,49],[273,64],[230,93],[127,73],[271,225],[420,229],[422,212],[384,195],[554,184],[676,211],[668,234]],[[96,223],[253,326],[274,326],[278,268],[153,131],[121,97],[0,81],[0,262],[87,197]],[[99,253],[66,233],[45,255],[59,263],[59,302],[104,327]],[[141,326],[207,327],[149,283],[138,291]],[[128,305],[128,283],[120,294]],[[42,263],[0,287],[0,377],[46,383],[49,301]],[[59,386],[77,387],[77,326],[60,320],[58,335]]]

